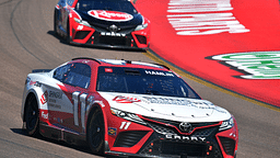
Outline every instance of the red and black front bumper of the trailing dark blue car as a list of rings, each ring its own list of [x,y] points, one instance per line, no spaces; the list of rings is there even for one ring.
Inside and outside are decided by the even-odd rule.
[[[114,33],[97,31],[93,27],[73,22],[70,43],[74,45],[101,46],[113,48],[148,49],[150,45],[149,31],[129,31]]]

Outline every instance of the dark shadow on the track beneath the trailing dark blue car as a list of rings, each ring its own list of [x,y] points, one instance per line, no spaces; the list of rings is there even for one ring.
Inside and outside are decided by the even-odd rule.
[[[63,37],[60,37],[58,34],[56,34],[55,31],[48,31],[47,34],[52,35],[54,37],[59,40],[61,44],[69,45],[69,46],[75,46],[81,48],[95,48],[95,49],[102,49],[102,50],[110,49],[110,50],[121,50],[121,52],[128,52],[128,53],[147,53],[145,49],[141,49],[141,48],[118,48],[118,47],[89,46],[89,45],[71,45],[67,43]]]

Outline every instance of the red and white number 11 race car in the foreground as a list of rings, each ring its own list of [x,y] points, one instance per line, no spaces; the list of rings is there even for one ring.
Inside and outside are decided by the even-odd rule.
[[[234,158],[232,114],[159,64],[79,57],[27,75],[23,127],[93,154]]]

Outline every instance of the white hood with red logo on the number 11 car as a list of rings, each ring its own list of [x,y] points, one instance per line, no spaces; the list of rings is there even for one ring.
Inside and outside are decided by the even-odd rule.
[[[218,122],[231,114],[209,101],[163,95],[100,92],[110,108],[143,116],[189,122]]]

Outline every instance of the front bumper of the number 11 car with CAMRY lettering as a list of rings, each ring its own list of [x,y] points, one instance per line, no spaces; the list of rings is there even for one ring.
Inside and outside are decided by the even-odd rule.
[[[131,124],[132,125],[132,124]],[[191,134],[180,134],[176,127],[159,123],[148,123],[153,132],[136,131],[119,133],[114,147],[108,155],[124,157],[168,157],[168,158],[234,158],[237,150],[237,133],[235,127],[219,132],[220,123],[198,127]],[[142,134],[140,134],[142,133]],[[148,138],[147,135],[149,136]],[[126,139],[125,139],[126,138]],[[133,143],[141,146],[138,151],[129,153],[133,148],[131,139],[143,142]]]

